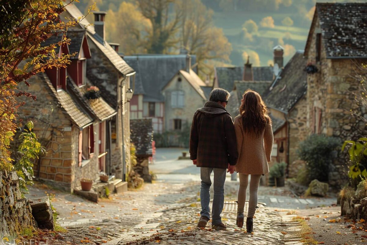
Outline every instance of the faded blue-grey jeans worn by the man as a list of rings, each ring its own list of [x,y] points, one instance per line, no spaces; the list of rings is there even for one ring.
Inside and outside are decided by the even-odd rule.
[[[201,216],[210,219],[210,174],[214,170],[214,198],[212,210],[212,225],[222,223],[221,213],[224,206],[224,182],[226,180],[226,169],[217,169],[211,167],[200,167],[201,188]]]

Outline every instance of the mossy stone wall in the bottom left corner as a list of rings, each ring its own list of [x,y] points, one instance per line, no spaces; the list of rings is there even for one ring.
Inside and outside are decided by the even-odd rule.
[[[0,172],[0,235],[14,238],[35,227],[29,200],[22,198],[15,172]]]

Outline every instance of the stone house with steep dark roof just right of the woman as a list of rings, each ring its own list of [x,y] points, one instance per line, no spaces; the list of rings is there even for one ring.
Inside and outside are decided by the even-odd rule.
[[[308,136],[306,63],[303,51],[297,51],[263,97],[273,120],[273,162],[287,163],[287,177],[297,176],[304,166],[298,160],[297,149]]]

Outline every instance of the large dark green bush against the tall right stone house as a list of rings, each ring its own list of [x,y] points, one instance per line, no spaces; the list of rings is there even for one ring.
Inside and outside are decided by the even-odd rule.
[[[299,144],[298,155],[306,162],[309,179],[328,181],[332,152],[341,145],[339,138],[312,134]]]

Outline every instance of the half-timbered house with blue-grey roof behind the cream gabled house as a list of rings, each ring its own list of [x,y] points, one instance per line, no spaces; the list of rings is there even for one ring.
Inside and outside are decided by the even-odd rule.
[[[123,58],[137,72],[134,96],[130,102],[131,119],[151,118],[153,130],[163,133],[166,125],[161,89],[177,71],[185,69],[186,54],[142,54]],[[195,62],[196,56],[191,55],[191,65]]]

